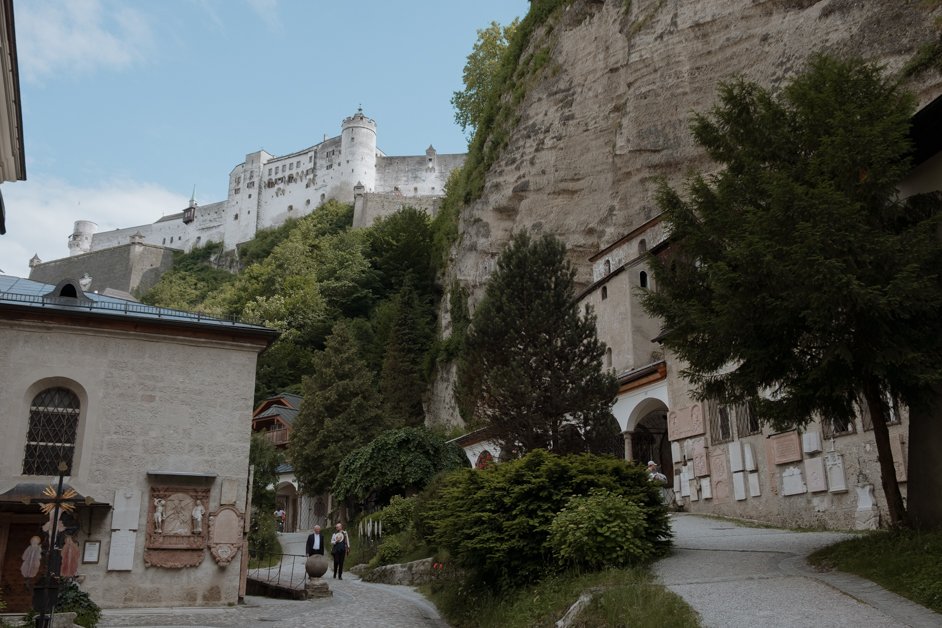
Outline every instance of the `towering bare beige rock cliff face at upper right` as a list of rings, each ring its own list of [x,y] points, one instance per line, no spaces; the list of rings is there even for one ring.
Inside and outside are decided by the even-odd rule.
[[[937,14],[919,0],[575,0],[531,38],[528,54],[548,61],[483,195],[463,210],[453,277],[475,301],[510,234],[526,228],[561,238],[589,283],[588,258],[657,214],[658,177],[679,183],[711,167],[688,125],[719,81],[775,88],[817,51],[896,71],[934,37]],[[937,73],[920,81],[920,104],[942,92]],[[433,421],[454,421],[450,393],[441,373]]]

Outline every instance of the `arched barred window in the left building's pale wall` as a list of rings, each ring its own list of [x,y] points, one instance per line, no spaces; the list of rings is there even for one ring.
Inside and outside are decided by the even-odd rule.
[[[23,475],[58,475],[59,462],[72,472],[78,433],[79,399],[68,388],[47,388],[29,407]]]

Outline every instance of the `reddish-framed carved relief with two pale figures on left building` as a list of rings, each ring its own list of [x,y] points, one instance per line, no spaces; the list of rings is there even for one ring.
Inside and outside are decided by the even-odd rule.
[[[144,563],[179,569],[203,562],[208,488],[154,486],[150,489]]]

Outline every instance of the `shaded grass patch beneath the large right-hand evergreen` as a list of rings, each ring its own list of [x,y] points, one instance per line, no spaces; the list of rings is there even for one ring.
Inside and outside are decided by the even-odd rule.
[[[942,613],[942,530],[874,532],[818,550],[811,564],[872,580]]]

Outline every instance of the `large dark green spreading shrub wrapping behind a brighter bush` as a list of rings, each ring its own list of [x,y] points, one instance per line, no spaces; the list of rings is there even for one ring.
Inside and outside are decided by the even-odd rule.
[[[533,451],[488,469],[456,471],[421,496],[416,529],[474,580],[494,590],[533,582],[556,561],[550,526],[569,499],[606,489],[630,498],[646,525],[639,543],[650,556],[670,544],[667,511],[645,470],[615,458]]]

